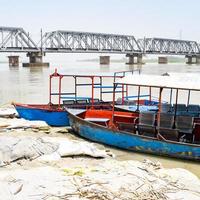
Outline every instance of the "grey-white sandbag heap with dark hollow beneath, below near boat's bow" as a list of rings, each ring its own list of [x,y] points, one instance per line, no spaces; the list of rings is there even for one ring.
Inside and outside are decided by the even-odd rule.
[[[92,143],[67,138],[1,136],[0,144],[0,167],[21,159],[52,161],[78,155],[108,157],[106,151],[98,149]]]

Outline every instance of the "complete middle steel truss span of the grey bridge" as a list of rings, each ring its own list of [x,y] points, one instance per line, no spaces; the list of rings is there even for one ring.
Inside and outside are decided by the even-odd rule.
[[[42,49],[45,52],[66,53],[126,54],[141,52],[134,36],[74,31],[46,33],[42,38]]]

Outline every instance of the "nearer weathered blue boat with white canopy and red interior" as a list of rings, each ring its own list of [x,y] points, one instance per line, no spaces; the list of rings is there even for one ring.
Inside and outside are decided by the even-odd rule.
[[[114,106],[112,111],[89,109],[78,114],[68,110],[69,123],[78,135],[122,149],[200,161],[200,106],[190,104],[192,91],[200,91],[198,77],[133,75],[115,82],[114,88],[117,84],[156,88],[158,111],[119,112]],[[170,92],[170,104],[162,104],[165,90]],[[178,103],[180,91],[188,92],[187,106]]]

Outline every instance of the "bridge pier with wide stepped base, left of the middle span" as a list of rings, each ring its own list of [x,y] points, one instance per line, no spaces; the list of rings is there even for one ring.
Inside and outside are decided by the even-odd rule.
[[[23,63],[23,67],[49,67],[49,63],[43,62],[44,54],[42,52],[28,52],[29,63]]]

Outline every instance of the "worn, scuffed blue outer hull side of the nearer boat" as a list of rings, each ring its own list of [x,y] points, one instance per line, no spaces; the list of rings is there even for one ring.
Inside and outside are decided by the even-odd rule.
[[[113,131],[85,121],[69,112],[69,123],[80,136],[122,149],[200,161],[200,146],[172,141],[161,141],[123,131]]]

